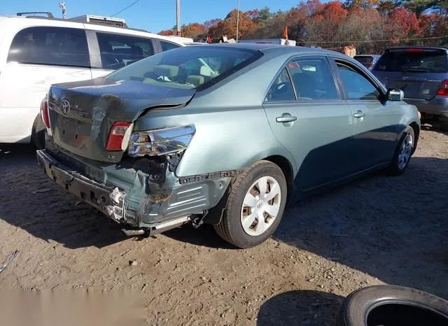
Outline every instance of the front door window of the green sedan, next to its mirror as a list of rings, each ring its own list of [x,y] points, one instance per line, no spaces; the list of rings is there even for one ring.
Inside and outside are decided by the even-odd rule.
[[[347,99],[379,99],[377,87],[358,71],[345,64],[337,62],[339,76],[341,76]]]

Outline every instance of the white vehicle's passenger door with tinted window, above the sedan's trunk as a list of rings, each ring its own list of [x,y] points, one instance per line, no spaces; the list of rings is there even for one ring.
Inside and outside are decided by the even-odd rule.
[[[97,65],[92,69],[93,78],[101,77],[140,59],[155,54],[152,38],[108,31],[88,31],[94,35],[97,48]]]

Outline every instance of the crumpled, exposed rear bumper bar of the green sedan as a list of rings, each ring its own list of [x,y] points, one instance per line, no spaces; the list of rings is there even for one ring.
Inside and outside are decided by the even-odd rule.
[[[36,155],[38,165],[57,185],[99,209],[116,222],[127,222],[124,210],[125,192],[118,190],[118,187],[107,187],[85,178],[80,173],[57,162],[45,153],[45,150],[38,150]]]

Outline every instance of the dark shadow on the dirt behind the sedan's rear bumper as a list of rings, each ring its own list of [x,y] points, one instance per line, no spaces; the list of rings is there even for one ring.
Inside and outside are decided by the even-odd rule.
[[[32,146],[0,144],[0,166],[1,220],[72,249],[127,239],[116,222],[54,185]]]

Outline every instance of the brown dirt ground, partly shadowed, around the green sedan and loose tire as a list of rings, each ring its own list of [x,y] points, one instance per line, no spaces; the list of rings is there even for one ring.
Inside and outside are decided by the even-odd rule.
[[[447,299],[447,158],[448,135],[425,129],[403,176],[292,205],[272,239],[237,250],[207,226],[127,239],[32,148],[0,145],[0,262],[20,250],[0,290],[132,289],[148,325],[332,325],[344,296],[381,283]]]

